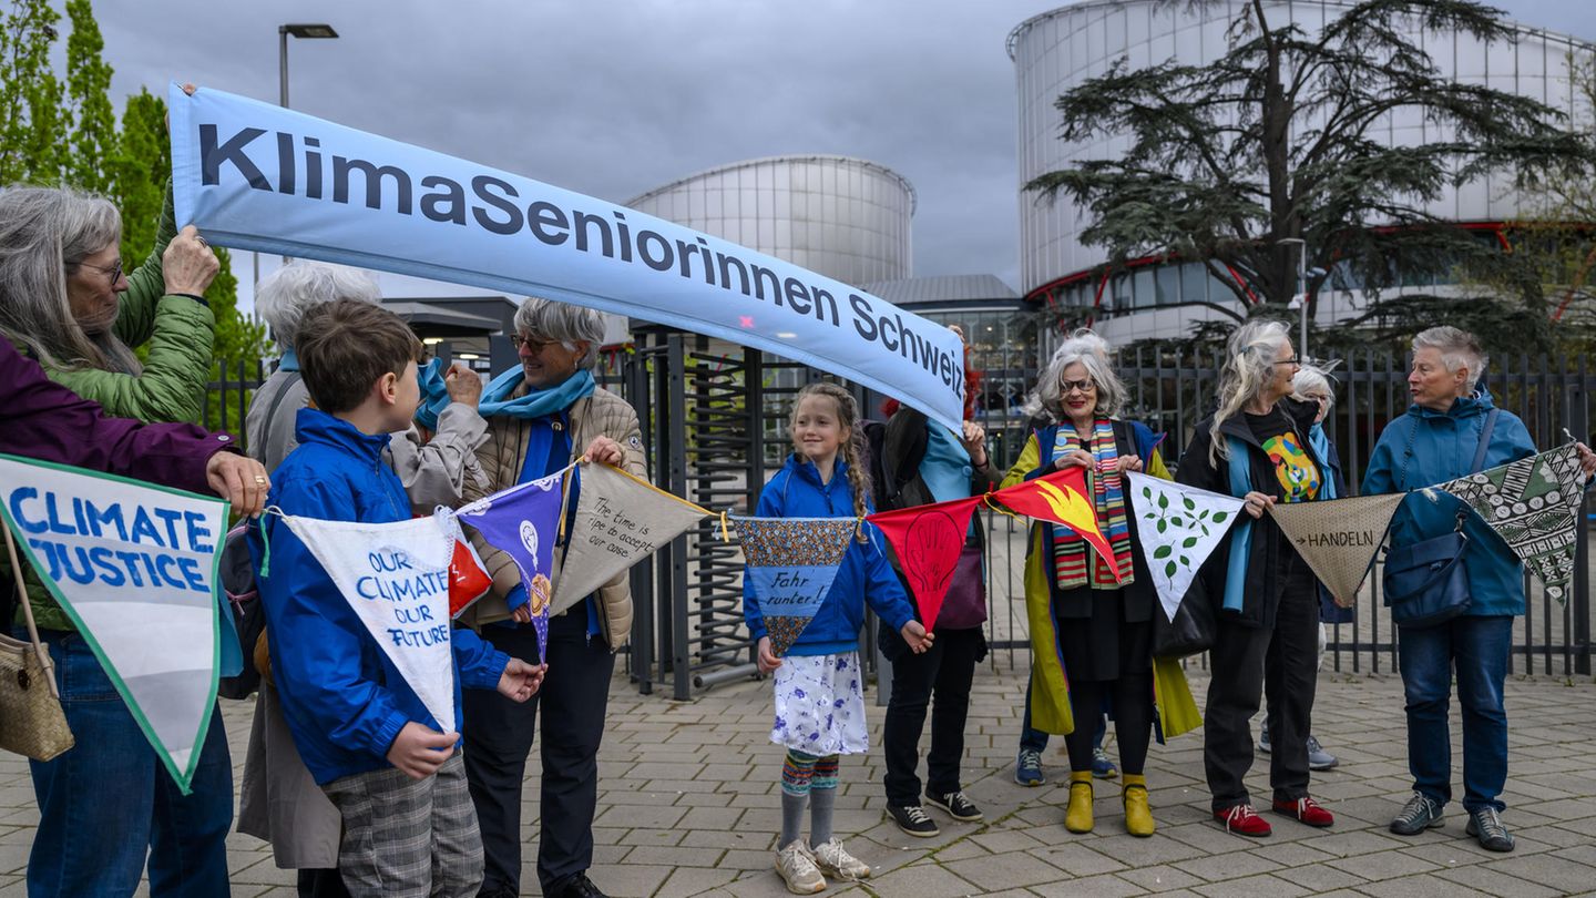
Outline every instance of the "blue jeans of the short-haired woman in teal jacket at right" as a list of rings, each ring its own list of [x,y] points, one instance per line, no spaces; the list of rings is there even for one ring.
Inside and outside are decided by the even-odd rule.
[[[1424,630],[1401,630],[1396,662],[1408,698],[1408,767],[1412,788],[1446,804],[1452,797],[1452,740],[1448,703],[1452,666],[1464,711],[1464,809],[1497,810],[1507,785],[1507,709],[1502,682],[1513,646],[1513,618],[1454,617]]]

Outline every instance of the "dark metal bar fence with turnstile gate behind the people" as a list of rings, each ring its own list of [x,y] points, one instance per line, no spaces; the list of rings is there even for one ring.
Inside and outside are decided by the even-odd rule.
[[[809,368],[741,347],[659,328],[634,334],[627,352],[602,361],[598,380],[621,393],[638,412],[650,478],[656,486],[712,511],[750,513],[764,481],[780,467],[790,441],[787,414],[803,383],[824,377]],[[1141,348],[1119,358],[1130,388],[1127,417],[1168,433],[1165,459],[1178,460],[1200,419],[1213,404],[1221,358],[1211,352]],[[1409,404],[1408,358],[1360,352],[1334,372],[1336,407],[1326,420],[1352,491],[1381,430]],[[260,366],[228,366],[209,385],[206,420],[243,438],[243,415],[263,379]],[[988,383],[1034,383],[1037,371],[1015,366],[985,372]],[[1486,385],[1497,404],[1519,415],[1537,446],[1580,439],[1590,433],[1596,372],[1585,358],[1499,361]],[[879,417],[881,396],[855,388],[867,417]],[[988,430],[991,455],[1010,465],[1029,435],[1020,393],[988,391],[975,420]],[[1583,511],[1590,511],[1588,503]],[[986,515],[990,663],[1017,670],[1029,644],[1025,617],[1023,566],[1028,526]],[[1529,614],[1515,622],[1511,670],[1523,674],[1590,676],[1591,602],[1590,527],[1580,516],[1577,580],[1559,606],[1526,577]],[[753,647],[742,626],[742,553],[721,538],[717,518],[664,546],[632,569],[635,625],[627,665],[642,692],[656,685],[688,698],[696,689],[750,676]],[[1369,577],[1357,617],[1329,628],[1326,666],[1336,671],[1396,670],[1398,633],[1381,602],[1379,577]],[[862,655],[873,633],[860,639]],[[1202,663],[1202,662],[1199,662]]]

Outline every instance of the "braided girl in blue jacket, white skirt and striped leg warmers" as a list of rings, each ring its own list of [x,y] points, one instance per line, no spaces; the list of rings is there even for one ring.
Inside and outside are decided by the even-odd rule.
[[[760,494],[758,518],[862,518],[870,515],[870,475],[859,443],[859,406],[835,383],[811,383],[798,393],[790,422],[793,449],[787,465]],[[865,879],[870,866],[832,834],[838,759],[867,751],[865,697],[860,692],[859,628],[865,602],[903,634],[915,652],[932,636],[915,620],[903,586],[881,550],[879,534],[860,524],[825,594],[825,602],[787,652],[771,654],[752,578],[744,577],[744,617],[760,644],[760,671],[776,674],[776,725],[771,741],[787,748],[782,764],[782,834],[776,872],[787,890],[811,895],[825,888],[825,872]],[[800,837],[809,804],[809,837]],[[824,871],[824,872],[822,872]]]

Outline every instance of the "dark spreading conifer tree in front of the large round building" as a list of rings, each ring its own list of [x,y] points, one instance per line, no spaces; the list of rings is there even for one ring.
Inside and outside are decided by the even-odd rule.
[[[1183,5],[1195,13],[1216,3]],[[1304,267],[1317,270],[1307,281],[1310,304],[1331,273],[1376,297],[1404,276],[1459,265],[1502,276],[1510,264],[1502,252],[1425,206],[1448,185],[1486,174],[1529,185],[1583,168],[1588,142],[1537,101],[1443,75],[1411,38],[1457,32],[1511,42],[1502,13],[1473,0],[1363,0],[1317,34],[1270,21],[1288,14],[1248,0],[1213,62],[1130,69],[1120,59],[1071,88],[1055,104],[1060,137],[1127,136],[1130,149],[1045,173],[1028,187],[1087,209],[1082,240],[1103,246],[1109,265],[1141,256],[1200,260],[1250,315],[1282,315],[1298,294],[1298,240],[1306,241]],[[1425,120],[1428,142],[1384,145],[1373,134],[1411,113]],[[1476,304],[1392,297],[1376,304],[1368,323],[1395,336],[1460,307],[1472,313],[1468,305]],[[1516,297],[1505,315],[1532,337],[1547,331],[1539,291]]]

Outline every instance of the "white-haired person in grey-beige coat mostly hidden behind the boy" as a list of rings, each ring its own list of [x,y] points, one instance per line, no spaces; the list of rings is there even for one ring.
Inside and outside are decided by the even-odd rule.
[[[311,308],[338,299],[372,305],[383,300],[370,272],[310,260],[294,260],[255,288],[255,312],[271,328],[278,345],[284,347],[276,371],[255,390],[244,419],[249,452],[267,470],[275,471],[298,446],[294,420],[310,404],[294,352],[300,320]],[[456,363],[445,377],[445,387],[450,404],[437,415],[437,433],[423,443],[412,427],[393,435],[385,454],[418,515],[437,505],[460,503],[466,481],[480,476],[476,451],[487,441],[487,422],[476,409],[482,379]],[[265,655],[263,641],[257,655]],[[276,864],[298,871],[303,898],[338,898],[348,895],[338,876],[342,828],[338,809],[300,759],[271,677],[263,676],[244,756],[238,831],[270,842]]]

